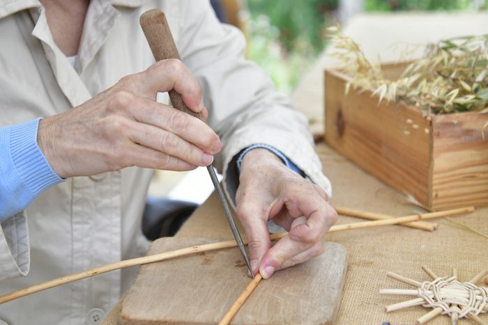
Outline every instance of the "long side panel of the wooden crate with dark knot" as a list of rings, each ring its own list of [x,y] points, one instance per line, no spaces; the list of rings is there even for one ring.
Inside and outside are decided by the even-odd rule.
[[[348,77],[326,70],[326,143],[391,187],[431,204],[431,122],[403,104],[379,103],[370,91],[344,88]]]

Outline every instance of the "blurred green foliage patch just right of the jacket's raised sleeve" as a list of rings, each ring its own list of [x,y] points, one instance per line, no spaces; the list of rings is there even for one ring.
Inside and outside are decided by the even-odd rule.
[[[290,93],[325,44],[327,13],[337,0],[250,0],[249,56]]]

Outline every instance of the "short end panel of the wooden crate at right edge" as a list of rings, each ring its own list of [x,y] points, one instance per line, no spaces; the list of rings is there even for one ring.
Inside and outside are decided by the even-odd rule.
[[[488,205],[487,122],[478,112],[433,116],[433,209]]]

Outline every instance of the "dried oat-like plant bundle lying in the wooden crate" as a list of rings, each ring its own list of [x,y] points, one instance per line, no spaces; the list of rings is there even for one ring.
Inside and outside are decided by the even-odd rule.
[[[346,93],[371,90],[382,100],[416,106],[431,114],[488,113],[488,34],[441,40],[427,46],[425,56],[410,63],[397,80],[387,79],[381,65],[367,60],[358,43],[337,26],[331,54],[351,77]]]

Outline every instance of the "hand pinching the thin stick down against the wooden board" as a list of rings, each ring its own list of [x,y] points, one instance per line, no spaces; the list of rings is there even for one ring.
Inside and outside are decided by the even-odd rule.
[[[323,252],[323,235],[337,220],[326,193],[285,166],[266,149],[248,152],[241,165],[237,215],[247,240],[251,267],[269,278],[277,270]],[[289,231],[271,247],[268,220]]]

